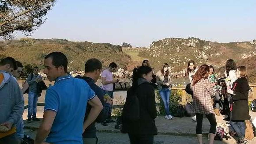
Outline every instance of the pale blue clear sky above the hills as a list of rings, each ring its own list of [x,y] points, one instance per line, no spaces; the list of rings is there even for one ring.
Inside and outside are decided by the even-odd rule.
[[[127,42],[133,47],[170,37],[256,39],[255,0],[58,0],[47,17],[32,38]]]

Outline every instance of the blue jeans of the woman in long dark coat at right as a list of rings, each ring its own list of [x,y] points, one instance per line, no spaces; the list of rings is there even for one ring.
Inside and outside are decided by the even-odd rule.
[[[238,122],[231,121],[231,126],[236,131],[239,139],[243,139],[245,137],[245,122],[244,121],[238,121]]]

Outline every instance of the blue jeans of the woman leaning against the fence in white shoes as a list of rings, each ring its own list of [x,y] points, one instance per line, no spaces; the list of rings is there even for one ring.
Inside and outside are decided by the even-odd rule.
[[[159,90],[159,94],[162,98],[164,109],[165,109],[165,114],[170,115],[169,111],[169,101],[170,101],[170,94],[171,90],[169,88],[162,88]]]

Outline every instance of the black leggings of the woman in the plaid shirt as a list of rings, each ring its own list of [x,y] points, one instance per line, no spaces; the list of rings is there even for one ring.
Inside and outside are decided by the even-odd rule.
[[[196,134],[202,134],[202,125],[203,125],[203,113],[195,113],[196,116]],[[206,115],[207,119],[210,122],[211,128],[210,128],[210,133],[215,134],[216,133],[216,118],[213,113],[210,113]]]

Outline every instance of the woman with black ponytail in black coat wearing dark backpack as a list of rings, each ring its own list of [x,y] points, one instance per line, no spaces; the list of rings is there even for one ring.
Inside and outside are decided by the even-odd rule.
[[[127,91],[122,113],[122,132],[128,133],[131,144],[153,144],[154,135],[157,135],[155,93],[150,83],[152,74],[152,68],[147,66],[133,70],[133,86]]]

